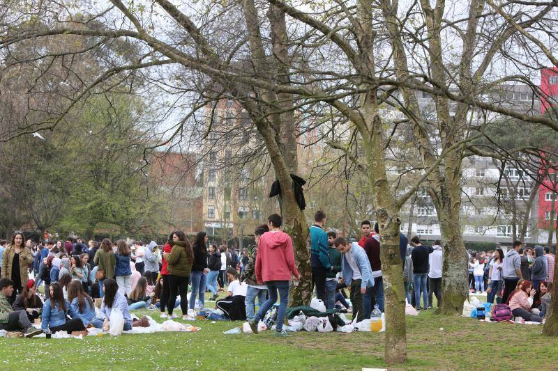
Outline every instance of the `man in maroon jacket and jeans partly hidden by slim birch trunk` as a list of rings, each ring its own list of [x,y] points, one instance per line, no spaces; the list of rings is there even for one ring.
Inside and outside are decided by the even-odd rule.
[[[382,277],[382,261],[379,258],[379,227],[378,223],[374,225],[374,234],[364,243],[364,251],[370,267],[372,267],[372,278],[374,278],[374,287],[368,287],[364,294],[364,317],[370,318],[372,307],[377,304],[379,310],[384,312],[384,281]],[[373,301],[373,303],[372,303]]]

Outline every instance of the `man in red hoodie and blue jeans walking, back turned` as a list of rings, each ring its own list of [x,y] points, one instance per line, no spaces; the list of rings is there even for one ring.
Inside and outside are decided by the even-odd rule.
[[[277,292],[279,292],[275,334],[276,336],[287,336],[287,331],[282,328],[287,302],[289,301],[289,281],[291,274],[297,279],[300,279],[301,276],[294,265],[292,239],[287,233],[279,229],[282,224],[281,216],[272,214],[267,221],[270,231],[265,232],[259,238],[255,273],[257,282],[266,284],[269,299],[259,307],[256,316],[248,323],[252,331],[257,333],[259,320],[276,303]]]

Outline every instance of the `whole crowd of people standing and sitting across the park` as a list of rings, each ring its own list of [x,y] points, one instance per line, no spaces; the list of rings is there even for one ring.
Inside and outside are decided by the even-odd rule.
[[[312,292],[315,290],[317,299],[326,310],[353,313],[357,322],[369,318],[373,309],[383,312],[377,223],[372,226],[370,221],[362,221],[362,237],[357,242],[338,237],[334,230],[326,231],[324,212],[316,212],[314,219],[309,242]],[[43,331],[86,335],[88,326],[110,329],[114,308],[123,315],[124,330],[149,326],[145,316],[130,314],[141,308],[158,310],[160,317],[174,319],[180,317],[175,313],[180,307],[182,319],[190,321],[195,320],[195,308],[204,308],[206,292],[211,292],[224,317],[246,319],[254,333],[259,320],[279,301],[276,334],[286,336],[282,323],[290,281],[293,277],[299,280],[300,274],[292,239],[281,226],[281,217],[272,214],[267,224],[256,228],[256,246],[240,253],[208,244],[206,232],[198,232],[190,244],[186,235],[176,230],[158,246],[153,241],[144,244],[123,239],[85,244],[80,237],[36,244],[16,231],[9,244],[0,241],[0,329],[22,331],[24,336]],[[433,307],[435,296],[440,306],[444,299],[442,243],[437,240],[426,246],[417,236],[407,241],[400,234],[399,250],[407,302],[417,310],[427,310]],[[543,320],[550,305],[555,265],[548,248],[524,249],[520,242],[514,242],[505,254],[497,248],[469,255],[472,292],[486,292],[489,303],[496,299],[508,304],[517,317]],[[44,294],[38,290],[42,285]],[[225,297],[217,300],[220,292]],[[100,308],[96,313],[97,300]],[[33,322],[40,322],[41,329],[35,329]]]

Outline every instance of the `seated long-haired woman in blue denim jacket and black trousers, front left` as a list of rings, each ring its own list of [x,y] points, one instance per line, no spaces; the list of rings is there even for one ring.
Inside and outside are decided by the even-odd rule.
[[[85,326],[80,318],[70,307],[70,303],[64,299],[62,285],[58,282],[50,284],[50,299],[47,299],[43,306],[41,327],[47,332],[66,331],[72,335],[87,335]],[[70,315],[72,319],[66,319]]]

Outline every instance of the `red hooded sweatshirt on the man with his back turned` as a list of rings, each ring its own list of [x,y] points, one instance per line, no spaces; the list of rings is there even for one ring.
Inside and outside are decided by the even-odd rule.
[[[257,281],[290,281],[291,274],[299,276],[291,237],[280,230],[265,232],[259,239],[256,255]]]

